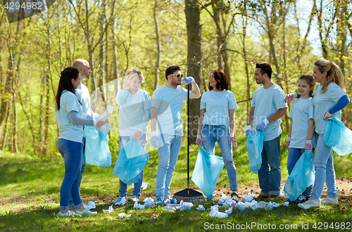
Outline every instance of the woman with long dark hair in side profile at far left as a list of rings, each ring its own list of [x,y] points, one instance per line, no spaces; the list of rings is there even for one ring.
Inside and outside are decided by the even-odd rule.
[[[58,151],[65,162],[65,176],[60,188],[59,217],[71,217],[75,214],[95,215],[84,208],[80,197],[79,173],[82,166],[83,127],[94,125],[100,128],[101,120],[86,119],[82,104],[75,96],[75,89],[80,84],[80,72],[75,67],[66,67],[61,72],[56,93],[56,120],[58,123]],[[73,196],[75,212],[68,210],[68,198]]]

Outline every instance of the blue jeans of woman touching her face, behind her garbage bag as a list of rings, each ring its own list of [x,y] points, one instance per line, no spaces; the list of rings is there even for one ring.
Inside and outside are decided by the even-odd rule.
[[[120,140],[118,141],[118,152],[122,150],[124,146],[130,141],[130,136],[120,136]],[[146,148],[146,134],[142,135],[141,138],[139,138],[138,141],[139,145],[142,146],[142,148]],[[137,179],[138,183],[134,183],[134,191],[133,195],[139,196],[141,195],[141,189],[142,189],[142,183],[143,183],[143,175],[144,175],[144,170],[142,170],[141,173],[138,174]],[[118,189],[118,192],[120,193],[120,197],[125,197],[127,196],[127,184],[123,183],[120,180],[120,188]]]

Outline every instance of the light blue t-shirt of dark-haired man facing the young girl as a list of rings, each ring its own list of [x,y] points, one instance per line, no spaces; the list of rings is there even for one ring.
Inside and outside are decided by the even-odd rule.
[[[261,121],[273,115],[277,110],[287,108],[287,103],[282,102],[284,101],[285,96],[286,94],[277,84],[273,84],[268,89],[264,89],[263,86],[260,86],[259,89],[254,91],[251,105],[252,107],[255,107],[253,129],[256,129]],[[269,122],[264,129],[264,141],[270,141],[277,138],[277,136],[282,133],[280,127],[281,122],[281,118],[274,122]]]

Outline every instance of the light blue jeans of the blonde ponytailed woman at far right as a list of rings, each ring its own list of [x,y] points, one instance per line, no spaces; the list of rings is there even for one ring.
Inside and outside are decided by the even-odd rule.
[[[320,200],[325,181],[327,183],[327,195],[330,198],[337,198],[332,148],[325,146],[323,137],[324,134],[319,135],[317,150],[315,151],[315,180],[311,197],[313,200]]]

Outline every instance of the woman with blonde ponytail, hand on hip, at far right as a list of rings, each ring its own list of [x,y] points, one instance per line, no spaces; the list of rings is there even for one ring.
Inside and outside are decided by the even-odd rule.
[[[325,59],[317,60],[313,67],[313,77],[315,82],[319,83],[313,96],[315,132],[318,134],[318,141],[315,151],[313,192],[309,200],[298,204],[298,207],[303,209],[319,207],[321,204],[339,204],[332,148],[325,146],[323,137],[327,119],[334,116],[341,120],[341,110],[350,102],[346,95],[344,75],[338,65]],[[289,94],[287,98],[294,95],[296,93]],[[320,201],[325,182],[327,197]]]

